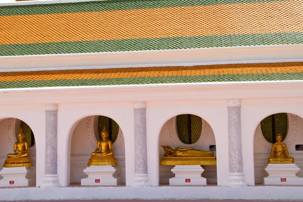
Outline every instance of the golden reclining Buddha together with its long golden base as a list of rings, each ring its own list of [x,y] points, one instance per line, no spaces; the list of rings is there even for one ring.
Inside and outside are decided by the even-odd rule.
[[[164,156],[160,161],[160,166],[173,165],[217,165],[217,160],[213,151],[198,150],[196,148],[173,149],[170,146],[163,146]]]

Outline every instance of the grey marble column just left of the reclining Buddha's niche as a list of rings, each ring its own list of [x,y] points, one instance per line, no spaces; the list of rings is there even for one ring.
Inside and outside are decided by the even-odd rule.
[[[135,174],[134,186],[150,186],[147,175],[146,103],[134,102]]]

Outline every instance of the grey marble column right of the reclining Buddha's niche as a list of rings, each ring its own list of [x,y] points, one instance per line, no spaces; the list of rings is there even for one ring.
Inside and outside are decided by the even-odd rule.
[[[247,186],[243,173],[241,143],[241,100],[228,99],[228,180],[226,186]]]

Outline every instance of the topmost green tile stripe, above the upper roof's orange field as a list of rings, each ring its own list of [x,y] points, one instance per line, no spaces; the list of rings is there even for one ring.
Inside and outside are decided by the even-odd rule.
[[[0,16],[40,15],[286,1],[290,0],[114,0],[66,4],[2,6],[0,7]]]

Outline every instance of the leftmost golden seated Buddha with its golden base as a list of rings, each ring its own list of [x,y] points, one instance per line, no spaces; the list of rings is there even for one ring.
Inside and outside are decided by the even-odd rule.
[[[8,154],[3,167],[31,167],[31,160],[28,157],[29,144],[24,139],[22,128],[18,133],[19,141],[14,144],[14,154]]]

